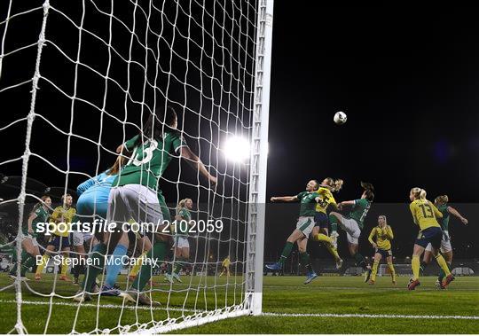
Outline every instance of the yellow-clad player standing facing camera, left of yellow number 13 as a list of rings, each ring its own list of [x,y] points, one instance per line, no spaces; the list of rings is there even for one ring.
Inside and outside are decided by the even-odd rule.
[[[373,239],[376,239],[374,242]],[[369,234],[369,242],[375,248],[373,271],[369,278],[369,284],[374,285],[376,282],[376,274],[378,273],[378,266],[381,258],[384,257],[388,262],[388,267],[391,272],[392,283],[396,285],[396,271],[392,263],[391,239],[394,238],[391,227],[388,225],[388,220],[385,215],[378,217],[378,226],[375,226]]]

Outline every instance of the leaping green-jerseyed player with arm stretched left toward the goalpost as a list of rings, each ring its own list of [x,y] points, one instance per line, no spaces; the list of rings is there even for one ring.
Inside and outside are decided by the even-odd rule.
[[[266,268],[269,270],[282,270],[289,254],[291,254],[294,243],[296,243],[298,245],[301,263],[308,270],[304,285],[309,284],[313,279],[318,277],[316,272],[312,269],[310,254],[306,252],[308,238],[314,228],[314,215],[316,214],[315,208],[318,202],[317,199],[319,199],[318,188],[318,181],[311,180],[306,184],[306,191],[302,191],[296,196],[271,197],[271,202],[294,202],[299,200],[301,201],[301,207],[298,222],[296,223],[296,229],[294,229],[293,233],[287,238],[287,243],[283,248],[279,261],[266,265]]]

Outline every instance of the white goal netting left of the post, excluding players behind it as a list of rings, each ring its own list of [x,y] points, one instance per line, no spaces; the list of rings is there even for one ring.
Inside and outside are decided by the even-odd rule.
[[[173,153],[159,183],[170,214],[189,198],[193,220],[223,222],[221,232],[190,235],[182,283],[155,273],[146,293],[161,307],[98,295],[76,303],[78,286],[60,281],[51,261],[39,281],[30,270],[30,281],[20,281],[20,267],[13,283],[0,274],[0,332],[165,332],[248,314],[249,164],[226,160],[224,141],[255,144],[257,7],[254,0],[0,4],[0,134],[11,149],[0,159],[4,261],[16,254],[20,265],[22,227],[43,194],[53,203],[67,192],[77,199],[77,185],[109,168],[116,147],[162,105],[176,110],[181,137],[218,180],[211,184]],[[143,252],[136,247],[130,241],[131,258]],[[228,255],[231,274],[219,277]],[[165,265],[176,261],[169,254]],[[122,290],[128,271],[118,277]]]

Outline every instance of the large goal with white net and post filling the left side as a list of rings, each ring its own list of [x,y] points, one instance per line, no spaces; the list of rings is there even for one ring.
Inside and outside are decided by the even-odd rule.
[[[0,135],[8,147],[0,161],[0,333],[169,332],[261,313],[271,29],[272,0],[0,4]],[[152,115],[159,138],[145,133]],[[161,168],[153,168],[158,139]],[[162,219],[188,220],[181,239],[165,235],[167,252],[138,289],[146,303],[104,294],[109,265],[91,289],[82,285],[90,267],[71,266],[95,260],[98,241],[76,245],[75,232],[38,231],[43,223],[75,231],[76,221],[106,219],[102,207],[111,215],[111,203],[93,200],[83,218],[78,186],[111,187],[98,176],[119,157],[117,175],[131,165],[157,178],[155,188],[142,184],[164,198]],[[126,235],[114,290],[125,293],[143,276],[140,264],[130,277],[154,249],[150,233]],[[74,300],[82,289],[90,301]]]

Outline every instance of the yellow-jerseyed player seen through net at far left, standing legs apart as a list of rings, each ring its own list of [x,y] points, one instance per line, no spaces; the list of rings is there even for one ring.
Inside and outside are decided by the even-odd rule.
[[[63,281],[70,281],[70,279],[67,277],[67,258],[68,254],[70,253],[69,231],[72,221],[75,217],[76,210],[75,207],[72,207],[72,195],[67,193],[61,197],[61,200],[63,202],[63,205],[55,207],[53,213],[50,216],[51,223],[55,223],[58,226],[51,235],[45,254],[43,254],[42,263],[36,268],[35,280],[40,280],[42,278],[42,271],[48,263],[52,252],[58,250],[63,252],[63,258],[61,261],[61,276],[59,277],[59,279]]]

